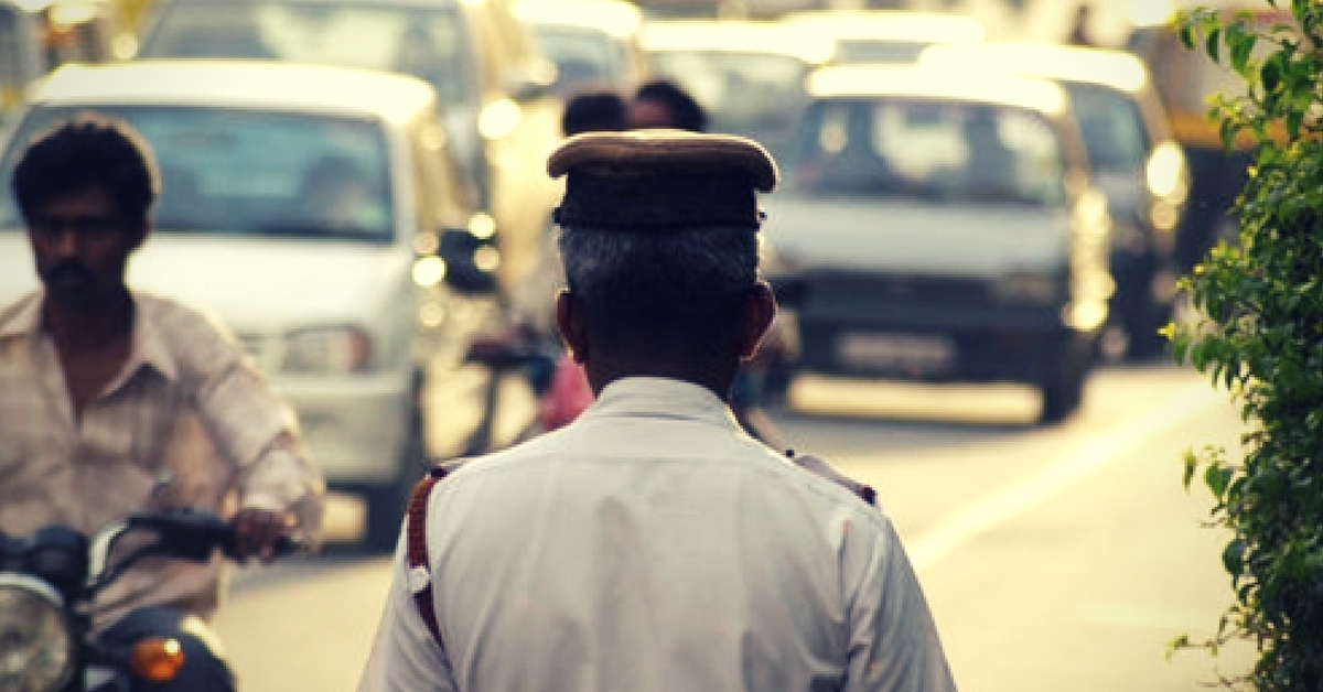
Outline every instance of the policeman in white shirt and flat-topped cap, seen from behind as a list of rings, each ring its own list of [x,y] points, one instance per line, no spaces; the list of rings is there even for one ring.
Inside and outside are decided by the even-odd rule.
[[[954,691],[886,515],[730,411],[777,311],[771,157],[594,132],[548,168],[557,324],[598,398],[415,495],[360,692]]]

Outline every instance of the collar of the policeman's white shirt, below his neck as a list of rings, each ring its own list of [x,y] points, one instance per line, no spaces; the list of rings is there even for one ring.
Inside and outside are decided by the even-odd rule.
[[[691,418],[738,429],[726,402],[712,390],[668,377],[623,377],[606,385],[585,417]]]

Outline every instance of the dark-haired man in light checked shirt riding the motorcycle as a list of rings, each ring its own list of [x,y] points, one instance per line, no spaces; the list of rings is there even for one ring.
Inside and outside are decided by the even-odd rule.
[[[0,532],[91,533],[193,507],[233,513],[241,560],[290,533],[315,541],[323,482],[287,406],[221,327],[126,286],[157,195],[146,143],[79,115],[37,139],[11,183],[42,288],[0,308]],[[107,646],[183,644],[184,668],[152,689],[234,689],[205,625],[222,561],[147,561],[99,594]]]

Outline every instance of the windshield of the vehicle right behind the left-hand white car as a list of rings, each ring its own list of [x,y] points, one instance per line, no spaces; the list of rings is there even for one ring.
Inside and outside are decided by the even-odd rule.
[[[446,105],[479,102],[458,9],[329,3],[169,3],[143,57],[251,58],[411,74]]]

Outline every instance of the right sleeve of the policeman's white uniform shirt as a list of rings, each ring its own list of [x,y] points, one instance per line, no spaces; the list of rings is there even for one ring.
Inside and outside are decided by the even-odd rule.
[[[872,545],[848,548],[847,692],[955,692],[937,626],[890,520]],[[855,554],[849,554],[855,553]],[[847,581],[847,584],[851,584]]]

